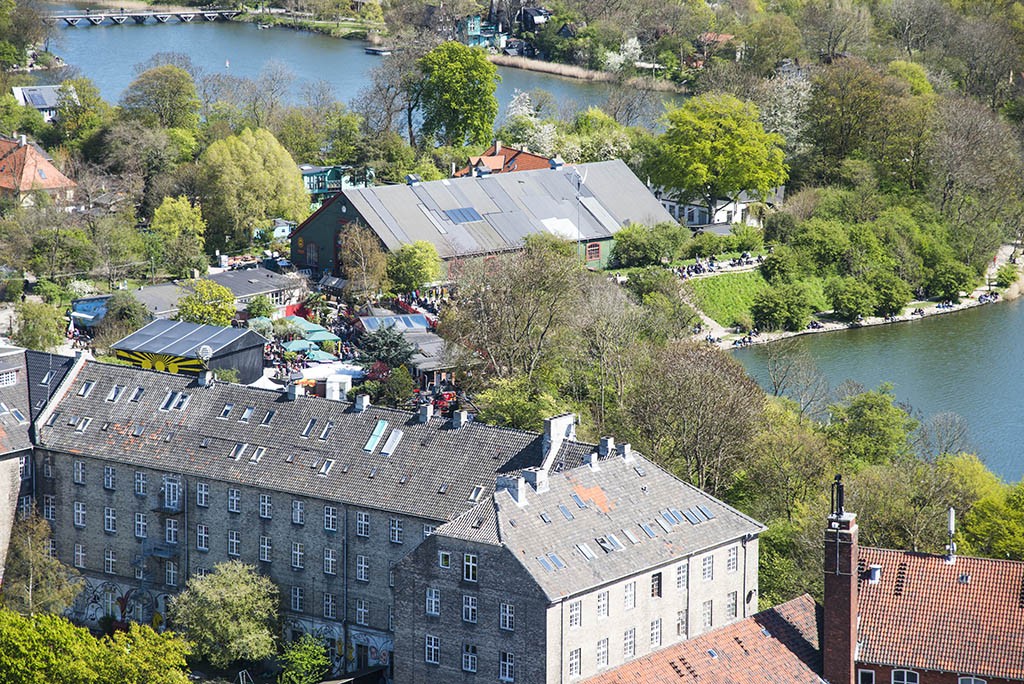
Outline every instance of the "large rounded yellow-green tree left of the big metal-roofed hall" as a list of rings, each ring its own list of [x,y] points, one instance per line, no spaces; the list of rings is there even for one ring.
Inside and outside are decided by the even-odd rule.
[[[245,129],[217,140],[199,159],[207,250],[245,248],[271,218],[301,221],[309,196],[298,167],[273,135]]]

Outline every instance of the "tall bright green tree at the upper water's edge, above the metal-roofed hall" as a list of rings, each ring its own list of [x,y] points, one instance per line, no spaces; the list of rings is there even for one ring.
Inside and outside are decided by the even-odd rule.
[[[423,133],[443,144],[483,144],[498,116],[498,68],[480,48],[449,41],[420,58]]]

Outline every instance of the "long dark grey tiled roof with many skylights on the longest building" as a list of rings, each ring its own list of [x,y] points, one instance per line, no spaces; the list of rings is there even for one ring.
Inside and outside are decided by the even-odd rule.
[[[86,380],[95,384],[81,396]],[[115,385],[125,389],[116,401],[108,400]],[[137,387],[144,392],[132,401]],[[161,411],[169,392],[188,395],[180,411]],[[227,403],[233,408],[218,418]],[[253,411],[242,422],[247,407]],[[532,432],[475,422],[454,429],[440,417],[421,424],[404,411],[371,407],[356,413],[347,402],[314,396],[289,401],[280,391],[219,382],[200,387],[186,376],[97,361],[84,365],[55,411],[51,425],[39,428],[37,441],[44,448],[439,521],[472,507],[468,500],[475,486],[488,496],[496,473],[538,466],[543,456],[543,438]],[[263,425],[268,411],[275,414]],[[85,417],[91,422],[77,432]],[[302,437],[310,419],[316,423]],[[321,439],[329,422],[333,429]],[[375,430],[381,430],[379,438],[367,451]],[[397,445],[383,456],[397,430],[402,432]],[[237,443],[248,444],[238,461],[229,458]],[[257,447],[266,451],[254,463]],[[569,441],[558,457],[571,465],[592,450]],[[326,460],[333,463],[321,475]]]

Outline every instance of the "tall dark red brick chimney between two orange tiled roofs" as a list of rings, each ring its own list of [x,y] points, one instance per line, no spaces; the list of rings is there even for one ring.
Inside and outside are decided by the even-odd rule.
[[[843,508],[843,476],[831,490],[825,528],[825,601],[822,660],[829,684],[854,684],[857,654],[857,516]]]

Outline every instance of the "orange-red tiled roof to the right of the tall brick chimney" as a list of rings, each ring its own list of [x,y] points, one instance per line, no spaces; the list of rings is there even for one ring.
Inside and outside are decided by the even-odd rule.
[[[1024,562],[860,549],[857,661],[1024,679]]]

